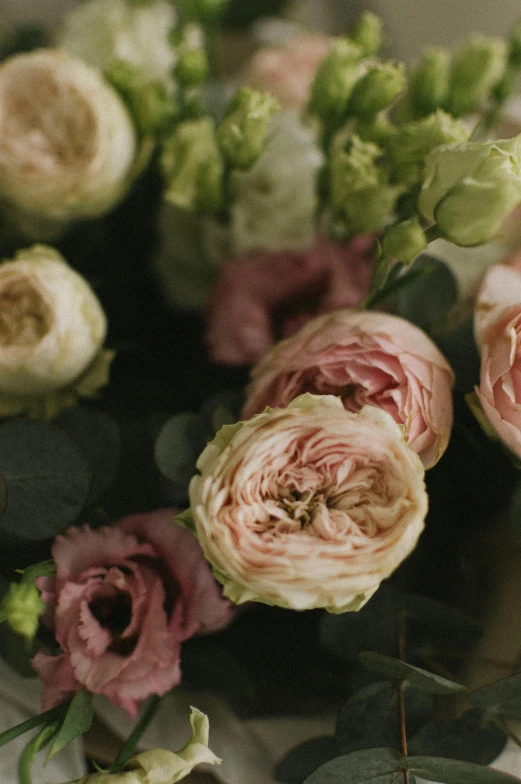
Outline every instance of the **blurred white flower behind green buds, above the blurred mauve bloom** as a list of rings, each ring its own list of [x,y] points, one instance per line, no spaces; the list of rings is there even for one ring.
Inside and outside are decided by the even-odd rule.
[[[313,135],[291,114],[277,114],[255,166],[236,175],[231,208],[236,255],[309,245],[315,234],[316,178],[321,164]]]

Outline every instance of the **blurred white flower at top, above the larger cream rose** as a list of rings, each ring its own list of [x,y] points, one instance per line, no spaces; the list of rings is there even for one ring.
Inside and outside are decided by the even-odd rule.
[[[175,52],[168,35],[176,12],[168,0],[87,0],[65,17],[58,44],[102,71],[123,60],[144,82],[169,81]]]

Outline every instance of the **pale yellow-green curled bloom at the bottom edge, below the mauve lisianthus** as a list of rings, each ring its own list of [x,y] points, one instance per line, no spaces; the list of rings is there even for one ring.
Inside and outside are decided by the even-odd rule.
[[[192,708],[192,737],[178,752],[149,749],[132,757],[121,773],[93,773],[79,784],[175,784],[196,765],[219,765],[222,760],[208,748],[209,724],[204,713]]]

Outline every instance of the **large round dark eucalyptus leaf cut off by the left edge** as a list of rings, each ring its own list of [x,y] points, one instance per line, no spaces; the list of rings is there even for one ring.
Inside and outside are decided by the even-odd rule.
[[[24,539],[49,539],[63,531],[78,516],[90,489],[81,451],[44,422],[0,425],[0,474],[8,492],[0,528]]]

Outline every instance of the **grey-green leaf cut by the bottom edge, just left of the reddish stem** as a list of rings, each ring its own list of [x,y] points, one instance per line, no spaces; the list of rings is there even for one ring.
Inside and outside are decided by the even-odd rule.
[[[402,763],[397,751],[365,749],[326,762],[304,784],[396,784],[400,776]],[[411,776],[409,784],[414,784]]]

